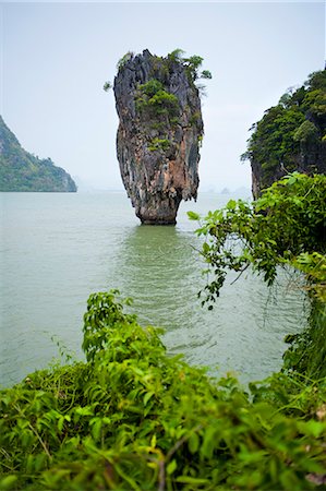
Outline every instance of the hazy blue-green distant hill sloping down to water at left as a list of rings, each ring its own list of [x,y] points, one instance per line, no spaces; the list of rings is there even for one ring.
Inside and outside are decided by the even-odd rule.
[[[22,148],[0,116],[0,191],[75,192],[71,176]]]

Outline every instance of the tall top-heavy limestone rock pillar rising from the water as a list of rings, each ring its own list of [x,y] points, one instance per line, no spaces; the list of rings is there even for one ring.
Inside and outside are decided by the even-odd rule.
[[[114,79],[117,155],[143,224],[176,224],[181,200],[196,199],[203,120],[189,68],[148,50],[129,55]]]

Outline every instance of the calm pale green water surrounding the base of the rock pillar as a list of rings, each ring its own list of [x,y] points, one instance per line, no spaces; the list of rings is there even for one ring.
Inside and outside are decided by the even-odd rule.
[[[186,211],[205,214],[230,195],[183,203],[177,227],[141,226],[124,192],[1,193],[0,384],[19,382],[58,356],[55,335],[82,357],[88,295],[119,288],[141,324],[166,328],[171,354],[243,381],[277,370],[287,333],[303,323],[304,299],[280,278],[276,291],[251,275],[228,278],[214,311],[196,294],[205,278]],[[234,197],[234,196],[232,196]]]

